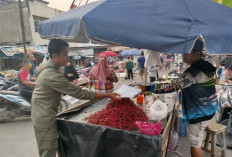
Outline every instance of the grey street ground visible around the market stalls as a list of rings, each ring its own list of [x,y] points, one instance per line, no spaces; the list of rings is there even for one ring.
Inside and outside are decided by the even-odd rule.
[[[162,70],[159,75],[162,76],[166,73],[166,70]],[[115,84],[115,89],[118,89],[122,84],[131,84],[135,81],[141,81],[138,75],[134,80],[120,80]],[[34,128],[30,118],[18,118],[10,123],[0,124],[0,139],[1,157],[39,157]],[[187,137],[179,138],[176,151],[183,157],[190,157]],[[209,156],[209,153],[203,152],[203,157]],[[219,156],[218,154],[216,157]],[[227,149],[226,156],[231,157],[232,150]]]

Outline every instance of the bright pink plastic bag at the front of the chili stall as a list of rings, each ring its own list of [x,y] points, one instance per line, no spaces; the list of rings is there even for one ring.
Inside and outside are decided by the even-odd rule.
[[[137,121],[135,124],[139,127],[139,133],[145,135],[159,135],[161,132],[161,122],[156,124]]]

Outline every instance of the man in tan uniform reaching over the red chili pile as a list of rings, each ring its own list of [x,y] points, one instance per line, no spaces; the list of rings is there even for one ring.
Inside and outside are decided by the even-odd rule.
[[[58,149],[56,115],[61,94],[78,99],[111,98],[119,99],[116,93],[94,93],[74,86],[59,73],[68,59],[68,43],[61,39],[52,39],[48,45],[50,59],[37,71],[35,90],[32,95],[31,119],[40,157],[55,157]]]

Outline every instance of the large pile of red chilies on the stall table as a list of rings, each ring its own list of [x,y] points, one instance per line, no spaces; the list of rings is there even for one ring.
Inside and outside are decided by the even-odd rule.
[[[106,108],[88,117],[88,123],[104,125],[122,130],[138,129],[136,121],[148,121],[143,110],[129,98],[111,100]]]

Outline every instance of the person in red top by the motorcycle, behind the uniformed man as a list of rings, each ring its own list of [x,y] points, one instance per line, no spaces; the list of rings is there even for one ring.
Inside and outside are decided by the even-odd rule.
[[[23,62],[23,67],[18,73],[19,92],[24,98],[31,100],[32,92],[35,86],[35,79],[30,77],[32,65],[28,61]]]

